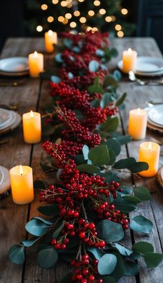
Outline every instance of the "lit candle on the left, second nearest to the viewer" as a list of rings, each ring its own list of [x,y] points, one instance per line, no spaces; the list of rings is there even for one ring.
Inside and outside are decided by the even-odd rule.
[[[23,139],[26,143],[39,143],[41,140],[41,115],[30,111],[23,114]]]

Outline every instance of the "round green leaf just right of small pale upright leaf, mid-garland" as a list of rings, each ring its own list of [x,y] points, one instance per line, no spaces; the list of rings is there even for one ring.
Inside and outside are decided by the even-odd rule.
[[[108,148],[106,145],[99,145],[97,147],[93,147],[88,152],[88,158],[96,165],[102,166],[108,164],[109,155]]]

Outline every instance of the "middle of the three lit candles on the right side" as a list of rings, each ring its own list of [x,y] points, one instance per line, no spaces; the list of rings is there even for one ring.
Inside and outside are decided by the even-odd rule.
[[[146,136],[147,113],[144,109],[133,109],[129,112],[128,134],[133,140],[142,140]]]

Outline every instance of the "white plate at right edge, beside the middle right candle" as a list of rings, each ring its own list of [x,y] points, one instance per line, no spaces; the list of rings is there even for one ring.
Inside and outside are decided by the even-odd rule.
[[[148,111],[148,118],[159,126],[163,126],[163,104],[154,105]]]

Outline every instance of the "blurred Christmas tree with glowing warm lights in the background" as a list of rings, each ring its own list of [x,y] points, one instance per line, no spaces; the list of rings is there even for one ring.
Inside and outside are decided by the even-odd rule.
[[[123,37],[133,34],[135,25],[128,22],[130,12],[121,0],[26,0],[28,35],[47,30],[79,32],[101,30]]]

